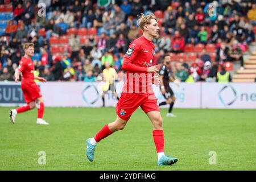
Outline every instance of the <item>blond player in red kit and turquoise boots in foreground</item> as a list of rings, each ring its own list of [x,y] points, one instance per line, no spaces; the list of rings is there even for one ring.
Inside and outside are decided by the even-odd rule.
[[[127,71],[127,80],[123,84],[121,97],[115,107],[117,118],[98,131],[94,138],[86,140],[86,156],[90,162],[94,159],[97,143],[115,131],[122,130],[131,114],[139,106],[153,125],[152,134],[158,155],[158,165],[171,165],[177,162],[176,158],[164,155],[163,119],[160,115],[158,99],[151,85],[160,84],[159,77],[152,77],[152,73],[158,73],[157,65],[152,66],[155,51],[152,40],[159,34],[157,21],[154,14],[142,14],[137,21],[143,35],[130,44],[123,57],[122,69]]]

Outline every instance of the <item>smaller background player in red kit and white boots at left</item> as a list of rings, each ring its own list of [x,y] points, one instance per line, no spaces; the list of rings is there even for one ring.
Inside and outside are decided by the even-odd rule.
[[[19,61],[19,67],[15,71],[15,82],[19,81],[19,75],[21,73],[22,76],[22,92],[24,95],[24,99],[27,105],[19,107],[17,109],[10,110],[10,120],[12,123],[15,123],[16,115],[19,113],[26,112],[28,110],[34,109],[36,106],[36,102],[38,103],[38,119],[36,124],[39,125],[49,125],[46,121],[44,121],[44,100],[42,94],[40,92],[40,88],[35,83],[35,79],[46,82],[45,78],[34,76],[34,64],[31,60],[31,57],[34,55],[34,44],[33,43],[25,43],[24,44],[25,55]]]

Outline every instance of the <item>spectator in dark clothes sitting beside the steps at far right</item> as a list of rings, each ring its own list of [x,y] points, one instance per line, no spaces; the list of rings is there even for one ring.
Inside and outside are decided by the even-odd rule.
[[[238,46],[238,41],[234,40],[232,47],[229,49],[229,57],[230,61],[238,61],[240,60],[241,67],[240,69],[243,69],[243,55],[242,55],[242,50]]]

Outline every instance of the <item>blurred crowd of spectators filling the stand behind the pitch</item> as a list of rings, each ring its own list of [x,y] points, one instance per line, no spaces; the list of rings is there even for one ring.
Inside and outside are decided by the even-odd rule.
[[[46,5],[46,16],[40,16],[40,3]],[[255,41],[255,1],[115,0],[112,3],[100,6],[97,0],[11,1],[13,17],[0,39],[0,81],[14,80],[26,42],[35,44],[32,57],[35,74],[48,81],[101,81],[106,62],[117,73],[123,73],[123,54],[142,35],[136,24],[137,15],[148,11],[158,16],[160,26],[160,34],[154,39],[153,64],[162,64],[165,53],[184,52],[187,44],[216,46],[214,59],[203,49],[193,61],[174,61],[172,73],[181,81],[218,81],[217,75],[226,73],[224,64],[228,61],[240,61],[243,69],[242,52]],[[71,28],[92,27],[97,33],[86,36],[82,43],[81,36],[68,34]],[[39,33],[42,28],[44,36]],[[69,37],[66,49],[52,53],[50,38],[63,35]]]

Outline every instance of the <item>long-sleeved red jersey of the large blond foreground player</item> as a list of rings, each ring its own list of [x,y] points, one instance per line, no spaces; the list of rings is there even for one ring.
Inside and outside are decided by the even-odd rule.
[[[131,42],[123,57],[122,68],[127,71],[123,93],[153,93],[152,73],[147,68],[152,66],[154,51],[154,44],[144,36]]]

